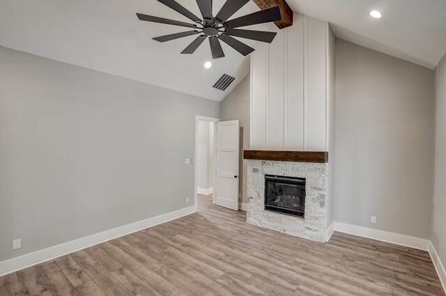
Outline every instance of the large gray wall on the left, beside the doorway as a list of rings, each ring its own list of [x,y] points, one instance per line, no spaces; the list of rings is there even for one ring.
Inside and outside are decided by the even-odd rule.
[[[0,261],[192,205],[195,115],[218,102],[4,47],[0,65]]]

